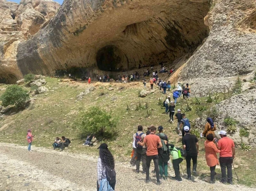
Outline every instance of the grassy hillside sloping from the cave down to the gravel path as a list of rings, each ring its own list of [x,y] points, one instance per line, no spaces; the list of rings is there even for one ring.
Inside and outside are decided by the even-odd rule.
[[[139,124],[145,130],[150,125],[163,126],[171,142],[176,146],[181,146],[181,137],[177,136],[175,131],[177,121],[175,120],[175,123],[170,124],[169,115],[166,115],[164,109],[158,105],[158,98],[163,101],[166,99],[166,95],[168,96],[169,94],[161,94],[156,86],[147,97],[139,98],[138,93],[143,89],[142,82],[129,83],[127,85],[94,83],[92,85],[96,85],[96,90],[85,95],[81,101],[76,101],[76,96],[89,87],[88,84],[60,82],[54,78],[46,78],[46,81],[47,84],[45,86],[49,89],[49,92],[34,97],[36,98],[35,103],[26,110],[12,116],[5,116],[4,119],[0,118],[1,141],[26,145],[26,131],[31,128],[33,134],[35,134],[33,145],[52,149],[51,145],[55,137],[66,136],[72,141],[72,146],[66,150],[67,152],[97,154],[97,147],[82,146],[84,140],[80,138],[78,123],[80,122],[79,113],[81,111],[90,110],[91,106],[98,106],[106,111],[111,111],[112,116],[118,119],[116,140],[105,140],[118,160],[128,162],[128,157],[132,150],[132,136]],[[25,85],[23,87],[30,90]],[[114,90],[109,91],[109,87],[114,88]],[[147,84],[147,90],[150,91],[149,83]],[[0,94],[3,92],[4,90],[0,91]],[[205,103],[205,98],[200,99],[203,101],[201,106],[214,105],[214,103]],[[139,101],[142,105],[148,103],[152,112],[150,117],[146,117],[147,110],[135,111],[136,104]],[[130,114],[126,110],[127,105],[131,108]],[[184,107],[184,105],[185,103],[179,99],[176,111],[178,108]],[[194,120],[197,118],[196,106],[191,104],[190,106],[192,110],[185,113],[190,120]],[[204,141],[204,139],[200,140],[198,162],[198,172],[202,177],[209,176],[209,167],[205,161]],[[239,183],[255,186],[256,179],[252,176],[256,170],[256,165],[252,162],[256,156],[255,150],[247,152],[237,149],[236,156],[234,164],[239,165],[239,168],[236,169],[240,179]],[[182,167],[185,172],[185,162],[182,163]],[[217,169],[217,172],[220,173],[220,169]],[[233,174],[233,177],[235,178],[236,175]]]

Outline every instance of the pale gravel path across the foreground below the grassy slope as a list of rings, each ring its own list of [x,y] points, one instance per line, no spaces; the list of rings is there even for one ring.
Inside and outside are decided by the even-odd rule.
[[[96,191],[97,157],[34,146],[34,152],[28,152],[26,149],[25,146],[0,143],[0,191]],[[196,182],[183,179],[182,183],[168,179],[157,186],[152,173],[152,181],[146,184],[146,175],[136,174],[134,170],[134,167],[127,164],[116,163],[116,191],[256,190],[240,185],[223,185],[219,182],[212,185],[199,179],[195,179]],[[173,176],[174,172],[170,170],[169,174]]]

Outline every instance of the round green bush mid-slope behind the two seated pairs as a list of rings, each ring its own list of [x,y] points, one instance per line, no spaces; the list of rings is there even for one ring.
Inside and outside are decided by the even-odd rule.
[[[90,107],[88,111],[82,112],[79,125],[83,138],[92,133],[99,140],[116,137],[116,119],[99,107]]]

